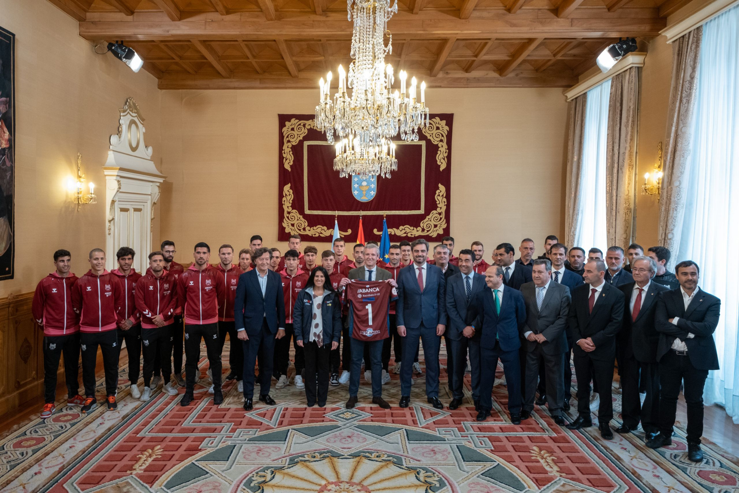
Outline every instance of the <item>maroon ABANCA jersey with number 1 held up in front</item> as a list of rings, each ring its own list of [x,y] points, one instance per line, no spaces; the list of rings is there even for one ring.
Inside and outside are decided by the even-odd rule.
[[[398,292],[386,281],[354,280],[345,290],[349,310],[349,334],[359,341],[389,337],[387,319],[390,299]]]

